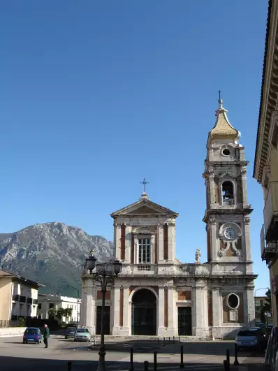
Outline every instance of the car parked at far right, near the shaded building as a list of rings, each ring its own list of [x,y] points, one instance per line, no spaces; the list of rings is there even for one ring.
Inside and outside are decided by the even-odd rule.
[[[266,330],[260,327],[250,327],[240,330],[235,338],[237,350],[239,349],[260,349],[263,350],[268,345]]]

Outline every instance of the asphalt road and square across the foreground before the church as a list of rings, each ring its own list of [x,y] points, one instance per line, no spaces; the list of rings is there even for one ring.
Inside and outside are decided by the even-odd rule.
[[[21,337],[0,338],[0,370],[1,371],[50,371],[68,370],[67,362],[71,361],[72,371],[94,371],[98,364],[98,350],[92,349],[89,343],[65,340],[61,335],[51,335],[49,347],[44,344],[22,344]],[[232,342],[187,342],[184,347],[184,365],[188,371],[223,370],[226,349],[231,351],[233,362]],[[157,370],[177,370],[180,365],[181,344],[159,344],[152,340],[136,340],[107,342],[106,369],[107,371],[129,370],[129,351],[134,349],[134,369],[143,370],[144,361],[149,361],[152,370],[153,351],[157,351]],[[239,354],[242,365],[261,363],[262,356],[258,354]],[[245,369],[247,370],[247,368]],[[244,371],[244,370],[243,370]]]

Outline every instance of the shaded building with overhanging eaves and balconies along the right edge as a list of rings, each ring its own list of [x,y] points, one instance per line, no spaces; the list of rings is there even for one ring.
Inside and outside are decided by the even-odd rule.
[[[272,317],[278,326],[278,1],[270,0],[263,61],[254,178],[263,187],[261,257],[270,269]]]

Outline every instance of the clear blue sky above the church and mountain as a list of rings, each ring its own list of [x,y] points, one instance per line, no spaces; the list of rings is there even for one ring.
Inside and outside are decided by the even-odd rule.
[[[206,261],[207,132],[218,90],[242,132],[256,288],[261,186],[252,178],[267,0],[0,2],[1,232],[63,221],[112,239],[140,197],[180,213],[177,256]],[[260,292],[263,294],[263,291]]]

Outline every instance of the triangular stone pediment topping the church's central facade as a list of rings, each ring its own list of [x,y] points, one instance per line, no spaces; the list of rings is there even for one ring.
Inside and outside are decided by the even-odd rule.
[[[176,212],[163,208],[163,206],[158,205],[149,199],[140,199],[136,203],[131,203],[131,205],[126,206],[126,208],[122,208],[118,211],[112,212],[111,217],[119,217],[119,216],[134,216],[134,215],[155,215],[155,216],[162,216],[162,215],[169,215],[171,217],[178,217],[179,214]]]

